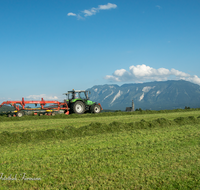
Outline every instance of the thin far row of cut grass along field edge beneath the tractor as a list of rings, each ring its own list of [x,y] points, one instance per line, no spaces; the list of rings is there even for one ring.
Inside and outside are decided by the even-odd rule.
[[[174,110],[141,110],[134,112],[124,112],[124,111],[116,111],[116,112],[102,112],[99,114],[56,114],[55,116],[23,116],[23,117],[7,117],[7,115],[0,116],[0,122],[4,121],[24,121],[24,120],[39,120],[39,119],[72,119],[72,118],[91,118],[91,117],[108,117],[108,116],[123,116],[123,115],[140,115],[140,114],[159,114],[159,113],[175,113],[175,112],[191,112],[191,111],[199,111],[200,108],[191,108],[191,109],[174,109]]]

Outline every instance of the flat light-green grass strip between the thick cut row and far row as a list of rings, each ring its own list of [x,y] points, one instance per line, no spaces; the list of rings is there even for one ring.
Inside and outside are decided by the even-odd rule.
[[[118,115],[118,116],[103,116],[103,117],[82,117],[82,118],[71,118],[71,119],[40,119],[40,120],[26,120],[26,121],[10,121],[0,122],[0,133],[3,131],[8,132],[25,132],[25,131],[45,131],[48,129],[61,129],[63,130],[66,126],[73,126],[75,128],[89,125],[90,123],[105,123],[109,124],[114,121],[130,123],[138,122],[142,119],[145,121],[152,121],[158,118],[166,118],[174,120],[177,117],[198,117],[200,111],[192,112],[176,112],[176,113],[159,113],[159,114],[138,114],[138,115]]]

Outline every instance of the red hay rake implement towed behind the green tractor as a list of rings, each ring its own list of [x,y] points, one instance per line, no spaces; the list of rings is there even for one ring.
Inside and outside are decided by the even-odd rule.
[[[39,108],[31,108],[31,107],[25,107],[27,104],[35,104],[35,107],[37,104],[40,105]],[[52,105],[49,105],[52,104]],[[62,111],[66,115],[69,114],[69,108],[67,105],[67,102],[59,102],[59,101],[45,101],[43,98],[41,101],[25,101],[24,98],[22,98],[22,101],[5,101],[3,102],[0,107],[3,105],[11,105],[14,107],[15,111],[8,113],[8,117],[11,116],[18,116],[22,117],[25,112],[33,112],[34,115],[40,114],[40,115],[55,115],[56,112]]]

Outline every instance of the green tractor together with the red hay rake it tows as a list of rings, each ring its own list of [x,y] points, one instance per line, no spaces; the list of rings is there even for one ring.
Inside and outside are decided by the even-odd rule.
[[[103,108],[100,103],[89,100],[90,91],[87,90],[72,90],[65,93],[67,99],[64,102],[59,101],[6,101],[3,105],[11,105],[15,111],[7,113],[8,117],[18,116],[22,117],[27,112],[34,112],[35,115],[55,115],[56,113],[70,113],[83,114],[83,113],[100,113]],[[35,104],[35,108],[25,107],[27,104]],[[37,104],[40,105],[36,108]],[[53,105],[49,105],[53,104]]]

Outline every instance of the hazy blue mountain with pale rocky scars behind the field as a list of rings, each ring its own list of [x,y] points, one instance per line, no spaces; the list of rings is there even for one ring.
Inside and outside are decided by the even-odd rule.
[[[184,80],[139,84],[95,85],[87,89],[90,99],[104,109],[125,110],[134,100],[135,109],[163,110],[200,107],[200,86]]]

